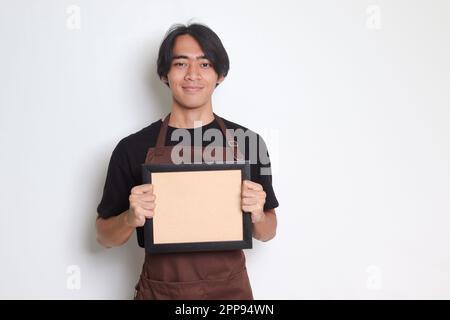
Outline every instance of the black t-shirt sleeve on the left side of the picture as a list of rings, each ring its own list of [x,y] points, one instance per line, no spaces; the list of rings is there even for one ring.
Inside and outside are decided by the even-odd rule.
[[[98,216],[109,218],[127,210],[132,187],[133,175],[121,141],[112,152],[109,161],[103,196],[97,207]]]

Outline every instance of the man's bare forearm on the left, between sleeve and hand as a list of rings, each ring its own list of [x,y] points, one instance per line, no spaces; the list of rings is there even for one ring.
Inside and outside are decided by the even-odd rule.
[[[130,238],[135,228],[125,223],[128,211],[111,218],[97,218],[97,242],[106,248],[121,246]]]

